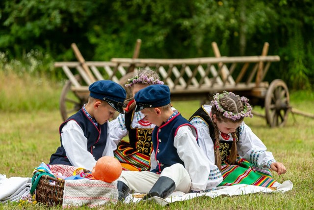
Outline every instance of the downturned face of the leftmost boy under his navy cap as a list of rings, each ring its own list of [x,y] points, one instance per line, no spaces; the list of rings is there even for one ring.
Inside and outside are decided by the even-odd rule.
[[[102,101],[94,111],[94,118],[99,124],[104,124],[110,118],[113,118],[113,114],[116,110],[110,106],[107,102]]]

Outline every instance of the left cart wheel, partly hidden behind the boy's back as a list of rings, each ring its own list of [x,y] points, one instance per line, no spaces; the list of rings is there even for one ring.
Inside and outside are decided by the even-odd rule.
[[[75,75],[78,82],[80,81],[80,76]],[[67,120],[68,117],[75,114],[87,101],[79,98],[72,90],[71,90],[72,82],[67,80],[65,85],[63,86],[61,97],[60,97],[60,112],[63,120]]]

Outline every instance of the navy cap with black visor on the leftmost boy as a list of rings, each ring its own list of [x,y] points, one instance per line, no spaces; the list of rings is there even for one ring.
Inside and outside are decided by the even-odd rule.
[[[111,80],[99,80],[88,88],[89,96],[106,101],[120,113],[124,113],[123,102],[127,97],[126,90]]]

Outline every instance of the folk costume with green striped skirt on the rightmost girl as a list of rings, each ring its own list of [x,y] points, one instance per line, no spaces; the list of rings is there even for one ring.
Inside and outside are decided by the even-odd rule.
[[[197,110],[190,122],[198,132],[200,148],[206,153],[211,162],[215,162],[215,136],[213,122],[210,117],[211,105],[203,105]],[[221,153],[221,174],[223,181],[218,186],[234,184],[250,184],[270,187],[280,184],[272,179],[269,171],[270,164],[276,162],[271,152],[266,151],[265,145],[252,132],[244,121],[236,129],[236,138],[231,134],[219,131],[219,152]],[[228,163],[232,142],[236,141],[238,157],[235,165]],[[216,165],[212,166],[216,167]]]

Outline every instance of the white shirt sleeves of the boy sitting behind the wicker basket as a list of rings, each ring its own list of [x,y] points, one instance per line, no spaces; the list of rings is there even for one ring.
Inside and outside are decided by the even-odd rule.
[[[108,123],[105,122],[105,123]],[[87,150],[87,138],[84,132],[75,120],[69,120],[62,128],[62,145],[66,151],[70,163],[76,167],[82,167],[87,170],[93,170],[96,160]],[[109,125],[107,128],[107,141],[103,156],[113,156],[113,151],[109,137]]]

